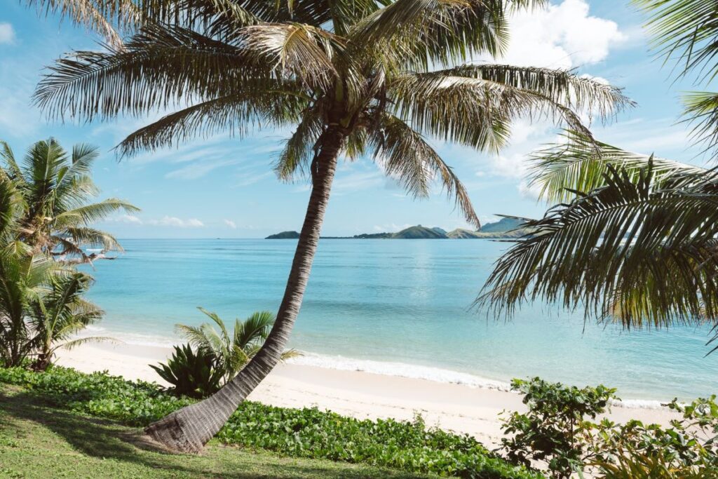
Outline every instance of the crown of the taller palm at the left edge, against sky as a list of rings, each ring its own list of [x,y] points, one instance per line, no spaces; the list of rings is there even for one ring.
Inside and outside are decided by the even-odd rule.
[[[19,239],[37,253],[88,262],[91,258],[85,246],[122,250],[111,234],[90,225],[117,211],[131,213],[139,208],[117,198],[88,203],[99,192],[90,177],[97,156],[97,148],[85,144],[75,145],[68,156],[57,141],[49,139],[33,144],[21,167],[9,145],[0,141],[4,160],[0,175],[14,183],[22,198]]]

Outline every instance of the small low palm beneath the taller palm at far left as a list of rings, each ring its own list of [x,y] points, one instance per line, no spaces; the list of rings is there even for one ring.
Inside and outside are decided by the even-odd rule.
[[[104,314],[97,305],[83,298],[92,282],[92,276],[77,271],[52,276],[47,293],[32,304],[27,325],[32,330],[30,343],[36,355],[32,364],[35,371],[45,371],[60,348],[111,340],[101,336],[76,338],[78,332],[101,320]]]

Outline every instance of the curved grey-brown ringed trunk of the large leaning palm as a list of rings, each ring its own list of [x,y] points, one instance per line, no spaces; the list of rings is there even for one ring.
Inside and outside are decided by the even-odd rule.
[[[197,404],[169,414],[145,429],[154,440],[172,450],[199,452],[223,427],[237,406],[279,363],[286,348],[294,320],[297,319],[302,297],[307,288],[309,271],[319,244],[322,221],[329,203],[332,181],[344,133],[330,127],[322,141],[320,154],[312,162],[312,195],[307,215],[294,253],[292,271],[284,290],[276,322],[259,353],[220,391]]]

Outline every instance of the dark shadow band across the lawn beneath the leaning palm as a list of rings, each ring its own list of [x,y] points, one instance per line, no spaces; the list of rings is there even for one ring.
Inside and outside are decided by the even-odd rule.
[[[26,434],[22,422],[32,422],[57,434],[73,450],[98,460],[111,459],[153,470],[152,477],[221,478],[416,478],[401,471],[355,466],[327,460],[297,460],[268,452],[211,445],[202,455],[158,450],[132,429],[104,419],[56,409],[30,391],[0,390],[4,427]]]

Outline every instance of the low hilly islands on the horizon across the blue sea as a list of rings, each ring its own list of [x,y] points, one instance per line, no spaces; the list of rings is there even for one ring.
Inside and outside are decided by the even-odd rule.
[[[480,231],[457,228],[445,231],[442,228],[427,228],[416,225],[404,228],[396,233],[362,233],[354,236],[322,236],[324,239],[501,239],[521,238],[531,234],[528,228],[523,228],[524,222],[517,218],[501,218],[494,223],[487,223]],[[282,231],[265,239],[297,239],[297,231]]]

